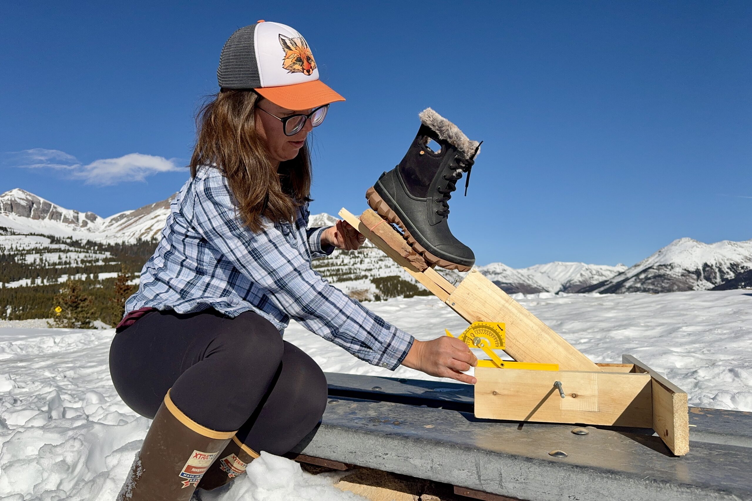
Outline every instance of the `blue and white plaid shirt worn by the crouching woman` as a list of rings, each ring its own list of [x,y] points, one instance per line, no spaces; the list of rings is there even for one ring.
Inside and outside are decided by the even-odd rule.
[[[154,255],[141,270],[126,313],[150,306],[178,313],[212,307],[229,317],[253,311],[280,333],[294,318],[369,364],[394,370],[413,337],[365,309],[311,269],[326,228],[307,228],[308,204],[295,225],[265,219],[254,234],[242,225],[225,177],[200,168],[170,205]]]

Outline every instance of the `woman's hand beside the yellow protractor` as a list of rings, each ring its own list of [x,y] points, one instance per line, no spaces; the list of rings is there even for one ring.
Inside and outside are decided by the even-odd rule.
[[[402,365],[429,376],[451,378],[475,385],[476,379],[462,372],[478,365],[478,358],[456,337],[441,336],[430,341],[413,340],[413,346]]]

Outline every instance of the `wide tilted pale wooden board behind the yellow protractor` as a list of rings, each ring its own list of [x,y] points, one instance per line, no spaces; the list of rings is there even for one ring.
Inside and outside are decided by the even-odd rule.
[[[560,370],[601,370],[475,268],[444,302],[471,323],[503,321],[507,326],[504,351],[516,361],[559,364]]]

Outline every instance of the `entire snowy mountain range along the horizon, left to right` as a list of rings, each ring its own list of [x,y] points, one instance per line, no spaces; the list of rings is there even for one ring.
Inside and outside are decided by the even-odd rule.
[[[170,200],[107,218],[59,207],[22,189],[0,195],[0,232],[42,234],[102,243],[156,240],[165,225]],[[311,215],[311,227],[332,225],[329,214]],[[5,228],[5,230],[4,230]],[[35,246],[43,246],[35,243]],[[399,265],[366,241],[358,251],[335,251],[314,263],[315,269],[344,291],[366,299],[378,295],[384,277],[415,284]],[[510,294],[538,292],[670,292],[752,286],[752,240],[706,244],[690,238],[670,243],[632,267],[554,261],[515,269],[502,263],[478,270]],[[461,273],[441,270],[457,282]],[[375,282],[374,282],[375,279]],[[392,284],[393,285],[393,284]]]

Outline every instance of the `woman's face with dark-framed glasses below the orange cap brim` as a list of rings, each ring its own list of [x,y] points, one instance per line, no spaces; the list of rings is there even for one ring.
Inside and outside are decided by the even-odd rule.
[[[287,108],[277,106],[277,104],[272,103],[268,99],[262,99],[256,103],[256,108],[259,107],[268,111],[268,113],[256,109],[256,131],[266,141],[266,147],[271,154],[271,160],[276,162],[292,160],[298,155],[298,150],[302,148],[305,138],[308,137],[308,133],[313,128],[311,120],[306,120],[303,128],[294,136],[286,136],[282,122],[274,118],[274,116],[284,118],[285,116],[301,113],[307,115],[313,111],[313,108],[308,110],[288,110]],[[274,116],[271,116],[269,113]]]

